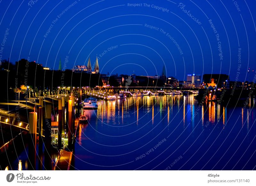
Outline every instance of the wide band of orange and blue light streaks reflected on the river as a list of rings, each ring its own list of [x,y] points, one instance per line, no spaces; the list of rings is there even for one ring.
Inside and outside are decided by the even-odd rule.
[[[219,121],[220,118],[222,118],[221,123],[223,125],[225,125],[226,122],[225,116],[227,115],[227,112],[223,105],[216,102],[207,102],[204,106],[198,107],[193,96],[181,95],[128,97],[125,100],[114,101],[101,100],[98,102],[97,111],[85,110],[84,112],[89,116],[89,118],[92,116],[97,116],[100,120],[107,118],[106,123],[115,121],[115,119],[119,117],[122,119],[119,124],[123,123],[124,116],[127,116],[128,114],[135,115],[136,121],[134,122],[138,124],[141,117],[152,112],[152,124],[154,124],[154,114],[157,114],[157,116],[159,115],[160,118],[162,118],[164,117],[163,111],[166,111],[167,123],[169,124],[170,114],[173,115],[174,108],[177,112],[183,113],[182,120],[184,124],[185,120],[191,120],[193,115],[202,119],[202,125],[204,124],[205,118],[211,123]],[[154,109],[156,110],[154,111]],[[205,109],[207,112],[205,112]],[[143,111],[143,115],[140,115],[139,118],[140,111]]]

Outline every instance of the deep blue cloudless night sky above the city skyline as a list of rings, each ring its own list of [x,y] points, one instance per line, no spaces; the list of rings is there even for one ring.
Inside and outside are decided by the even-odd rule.
[[[255,1],[2,0],[0,7],[1,43],[9,29],[2,59],[12,63],[29,57],[58,69],[60,58],[63,66],[68,56],[67,68],[72,68],[87,65],[89,56],[93,64],[97,54],[103,74],[155,75],[165,65],[167,76],[180,80],[193,73],[229,74],[235,80],[241,48],[238,81],[248,80],[248,67],[256,69]]]

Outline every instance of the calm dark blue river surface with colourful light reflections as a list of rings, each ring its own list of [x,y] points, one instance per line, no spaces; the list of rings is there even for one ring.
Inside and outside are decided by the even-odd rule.
[[[255,107],[199,106],[193,95],[99,101],[76,138],[78,170],[252,170]]]

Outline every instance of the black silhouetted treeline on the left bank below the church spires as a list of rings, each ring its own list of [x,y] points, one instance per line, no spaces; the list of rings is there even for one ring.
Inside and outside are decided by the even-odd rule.
[[[40,64],[26,59],[21,59],[15,65],[3,60],[0,69],[1,84],[5,89],[20,88],[21,85],[37,90],[62,86],[102,86],[100,74],[73,73],[68,69],[44,70]]]

